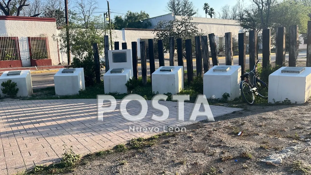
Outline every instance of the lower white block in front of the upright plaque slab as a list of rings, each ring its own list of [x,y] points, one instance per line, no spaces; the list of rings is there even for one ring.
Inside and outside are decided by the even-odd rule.
[[[104,91],[105,94],[118,92],[120,94],[128,93],[128,88],[125,84],[130,78],[132,78],[131,69],[124,69],[122,73],[111,73],[109,69],[108,72],[104,74]]]

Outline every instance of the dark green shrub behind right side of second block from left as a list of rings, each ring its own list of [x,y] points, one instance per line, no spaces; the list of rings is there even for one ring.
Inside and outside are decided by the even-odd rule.
[[[95,63],[93,55],[88,54],[84,57],[74,57],[72,59],[71,67],[84,69],[86,86],[93,86],[95,84]]]

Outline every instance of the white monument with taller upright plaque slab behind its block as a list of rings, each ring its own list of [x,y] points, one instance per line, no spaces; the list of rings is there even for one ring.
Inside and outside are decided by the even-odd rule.
[[[108,50],[109,71],[104,74],[105,94],[127,93],[125,84],[133,77],[132,50]]]

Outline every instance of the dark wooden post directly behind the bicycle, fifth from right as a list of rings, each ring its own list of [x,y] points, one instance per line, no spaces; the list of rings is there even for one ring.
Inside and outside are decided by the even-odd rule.
[[[249,31],[249,70],[253,70],[257,61],[257,31]],[[253,76],[250,76],[250,82],[253,82]]]

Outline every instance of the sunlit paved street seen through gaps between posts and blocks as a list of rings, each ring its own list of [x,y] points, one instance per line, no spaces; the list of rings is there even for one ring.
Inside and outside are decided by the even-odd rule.
[[[298,55],[298,60],[306,60],[307,57],[307,52],[302,51],[299,52]],[[286,60],[288,60],[288,54],[285,55]],[[262,56],[259,56],[258,59],[262,59]],[[271,61],[275,61],[275,54],[271,54]],[[156,61],[157,62],[157,61]],[[211,62],[211,60],[210,60]],[[156,63],[156,69],[159,68],[159,62]],[[169,65],[169,61],[165,60],[165,64]],[[219,64],[220,65],[225,65],[225,59],[219,59]],[[234,58],[233,59],[233,64],[238,65],[239,64],[239,59]],[[248,55],[246,56],[246,64],[249,64],[249,57]],[[175,62],[175,65],[177,65],[177,62]],[[186,64],[184,64],[186,65]],[[141,68],[139,69],[139,73],[141,73]],[[150,69],[149,66],[147,66],[147,71],[148,75],[150,75]],[[196,69],[195,62],[193,63],[193,69]],[[187,67],[185,66],[185,70],[187,70]],[[32,86],[33,88],[42,88],[42,87],[49,87],[49,86],[54,86],[54,79],[53,76],[55,75],[56,72],[51,72],[51,73],[38,73],[38,74],[32,74],[31,79],[32,79]],[[101,77],[103,78],[103,77]]]

